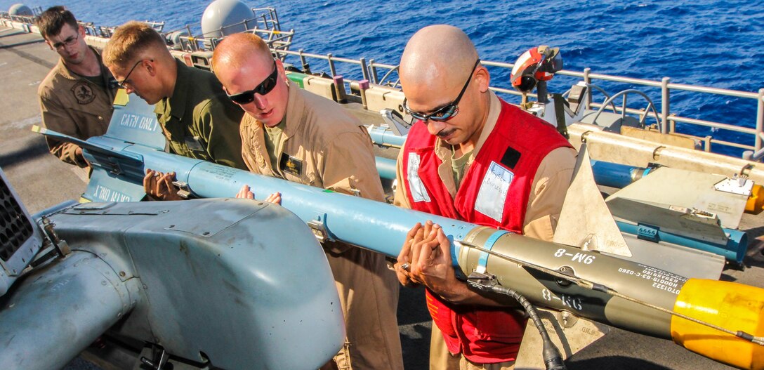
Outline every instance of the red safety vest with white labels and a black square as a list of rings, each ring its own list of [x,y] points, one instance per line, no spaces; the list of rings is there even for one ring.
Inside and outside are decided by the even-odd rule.
[[[418,211],[522,234],[536,170],[546,154],[561,147],[572,148],[552,125],[501,100],[494,131],[452,199],[438,175],[442,161],[435,155],[435,136],[429,135],[426,125],[413,125],[403,147],[409,203]],[[496,195],[504,192],[503,204],[498,203]],[[526,322],[523,315],[448,303],[429,290],[426,298],[450,352],[463,352],[476,363],[516,359]]]

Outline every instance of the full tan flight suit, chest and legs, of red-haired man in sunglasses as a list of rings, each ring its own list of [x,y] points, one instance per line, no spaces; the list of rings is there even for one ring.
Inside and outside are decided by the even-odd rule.
[[[371,138],[358,119],[335,102],[289,89],[286,127],[276,150],[279,168],[272,168],[264,128],[251,115],[241,120],[242,157],[255,174],[279,177],[313,187],[382,201]],[[264,198],[268,194],[258,194]],[[347,326],[351,365],[356,369],[401,369],[396,310],[398,283],[384,256],[362,248],[325,243]],[[348,368],[345,353],[335,360]]]

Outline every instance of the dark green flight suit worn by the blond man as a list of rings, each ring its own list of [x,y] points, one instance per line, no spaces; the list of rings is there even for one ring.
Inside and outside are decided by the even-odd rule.
[[[154,106],[170,153],[246,170],[238,134],[244,111],[225,96],[214,74],[175,63],[173,96]]]

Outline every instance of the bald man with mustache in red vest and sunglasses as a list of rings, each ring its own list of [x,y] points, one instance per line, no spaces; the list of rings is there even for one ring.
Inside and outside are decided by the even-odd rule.
[[[416,32],[400,82],[418,122],[398,157],[395,203],[551,241],[575,165],[568,141],[488,89],[488,70],[458,28]],[[403,285],[427,288],[430,368],[513,368],[526,324],[518,303],[458,280],[440,226],[410,230],[396,272]]]

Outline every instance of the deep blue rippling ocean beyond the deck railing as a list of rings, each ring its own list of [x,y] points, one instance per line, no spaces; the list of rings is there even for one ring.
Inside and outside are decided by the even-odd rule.
[[[6,10],[18,1],[0,0]],[[282,28],[296,31],[293,50],[332,53],[336,57],[374,59],[397,64],[408,38],[429,24],[463,29],[483,60],[513,63],[523,51],[539,44],[560,47],[566,70],[630,76],[672,83],[699,84],[756,92],[764,88],[764,2],[736,0],[617,0],[568,2],[500,2],[495,0],[280,0],[246,2],[277,8]],[[30,6],[47,8],[62,2],[39,0]],[[129,20],[166,21],[165,31],[199,21],[209,2],[176,0],[64,2],[82,21],[118,25]],[[314,72],[326,70],[311,64]],[[492,84],[508,87],[508,72],[491,70]],[[342,70],[340,72],[343,72]],[[354,77],[354,71],[348,76]],[[550,92],[564,92],[575,80],[557,76]],[[601,83],[614,93],[631,86]],[[659,100],[659,91],[651,91]],[[513,98],[508,97],[512,100]],[[595,99],[597,96],[595,95]],[[599,97],[602,99],[602,96]],[[644,106],[637,102],[634,107]],[[675,92],[672,112],[679,115],[754,127],[752,99],[712,97]],[[708,135],[711,130],[678,125],[679,131]],[[713,135],[753,144],[751,136],[720,130]],[[739,155],[735,149],[714,148]]]

